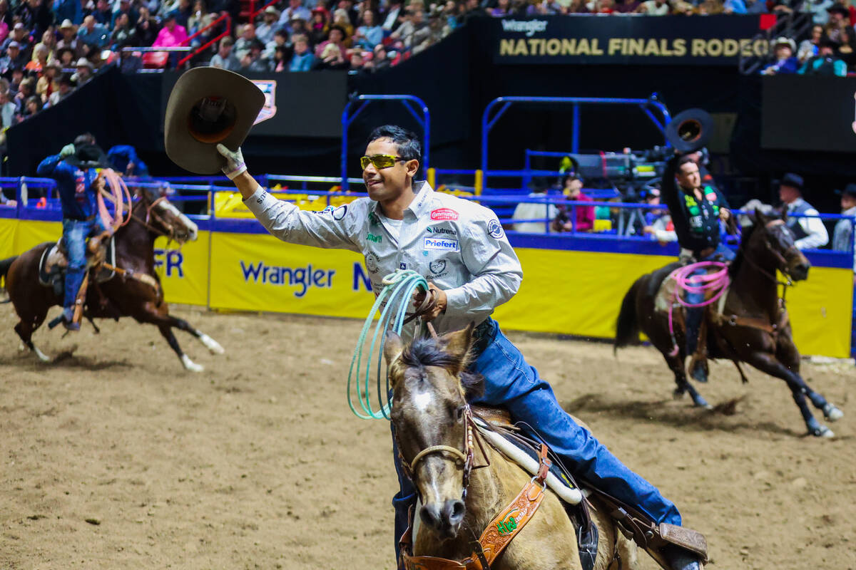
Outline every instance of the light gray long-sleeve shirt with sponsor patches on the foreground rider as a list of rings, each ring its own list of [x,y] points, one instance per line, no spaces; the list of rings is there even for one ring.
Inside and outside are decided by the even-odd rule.
[[[244,203],[282,241],[361,253],[374,291],[397,269],[423,275],[446,292],[446,311],[433,321],[438,333],[478,325],[520,288],[520,261],[490,209],[425,182],[413,191],[397,228],[369,198],[312,212],[259,187]]]

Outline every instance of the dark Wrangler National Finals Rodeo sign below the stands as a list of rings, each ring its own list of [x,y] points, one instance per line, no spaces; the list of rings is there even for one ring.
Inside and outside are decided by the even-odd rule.
[[[775,16],[773,16],[775,17]],[[735,65],[764,56],[767,15],[543,16],[489,22],[495,63]]]

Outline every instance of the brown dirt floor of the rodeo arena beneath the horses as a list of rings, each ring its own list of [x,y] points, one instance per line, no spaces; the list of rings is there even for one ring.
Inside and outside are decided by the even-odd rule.
[[[174,312],[225,347],[211,356],[177,333],[205,373],[132,320],[39,331],[56,358],[40,364],[0,306],[0,567],[393,568],[389,427],[345,399],[360,323]],[[655,350],[510,337],[707,535],[711,567],[856,568],[852,368],[804,368],[846,414],[820,441],[761,373],[743,386],[713,365],[703,394],[743,399],[710,413],[672,400]]]

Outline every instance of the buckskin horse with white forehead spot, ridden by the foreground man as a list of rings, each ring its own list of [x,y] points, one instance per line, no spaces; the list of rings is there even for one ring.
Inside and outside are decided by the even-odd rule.
[[[472,330],[471,325],[438,339],[420,338],[406,347],[395,332],[387,332],[383,354],[393,394],[390,419],[401,464],[422,505],[423,524],[413,536],[413,548],[402,549],[404,565],[408,570],[579,570],[577,535],[562,502],[544,488],[544,479],[538,485],[537,477],[493,448],[474,423],[466,395],[478,391],[484,379],[465,370]],[[531,511],[531,503],[520,505],[521,497],[540,500],[526,520],[520,511]],[[597,498],[591,502],[598,530],[593,567],[605,570],[615,561],[613,567],[636,568],[635,544],[618,531]],[[520,507],[517,513],[514,505]],[[406,540],[411,535],[408,531]],[[479,535],[487,538],[474,554]]]

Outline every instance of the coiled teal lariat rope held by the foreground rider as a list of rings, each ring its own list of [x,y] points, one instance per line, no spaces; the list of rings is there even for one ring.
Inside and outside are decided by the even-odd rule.
[[[404,319],[407,313],[407,307],[413,303],[413,292],[421,288],[425,293],[428,291],[428,281],[424,277],[412,270],[398,270],[395,273],[389,273],[383,278],[383,290],[375,299],[372,306],[372,311],[366,318],[366,323],[363,325],[363,330],[360,332],[360,340],[357,341],[357,348],[354,349],[354,357],[351,358],[351,367],[348,370],[348,406],[358,418],[363,420],[389,420],[389,379],[382,382],[381,364],[383,363],[383,338],[386,335],[386,330],[389,328],[396,334],[401,334],[401,327],[404,326]],[[380,311],[383,303],[383,312]],[[366,355],[366,370],[361,372],[363,363],[363,353],[366,350],[366,338],[369,334],[369,329],[372,327],[372,322],[375,315],[380,312],[380,319],[377,320],[374,335],[372,335],[372,345]],[[378,339],[380,344],[378,344]],[[377,378],[377,411],[372,409],[371,389],[369,387],[372,381],[372,360],[376,361],[375,373]],[[352,391],[351,386],[354,386]],[[362,408],[354,406],[354,391],[356,392],[357,401]]]

